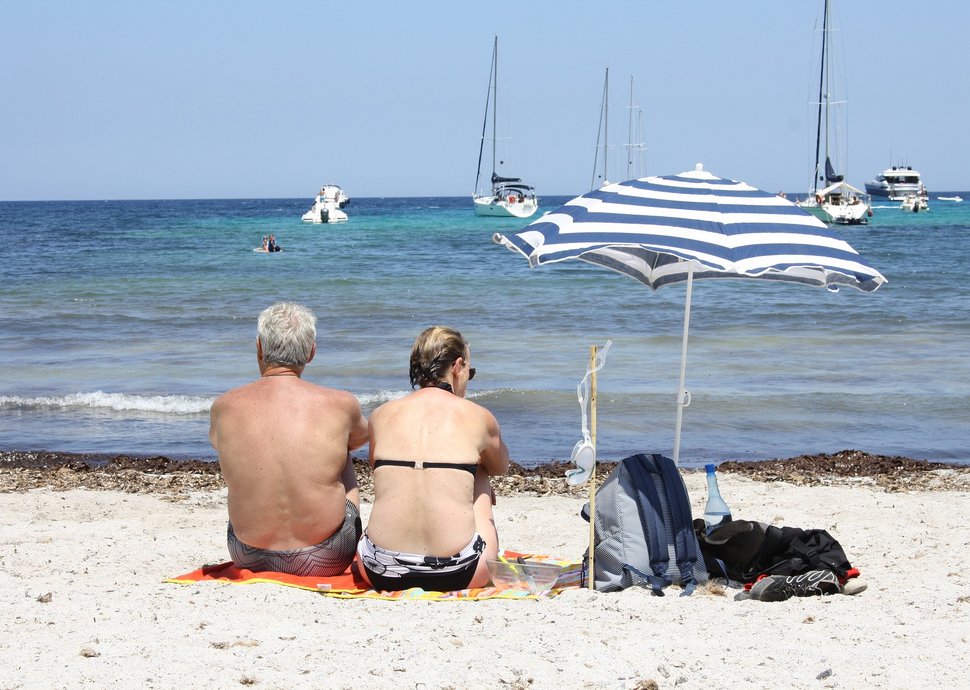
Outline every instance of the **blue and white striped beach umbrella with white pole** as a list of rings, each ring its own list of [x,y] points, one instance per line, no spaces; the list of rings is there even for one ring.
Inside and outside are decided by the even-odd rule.
[[[687,334],[695,278],[754,278],[871,292],[886,282],[848,242],[776,194],[725,179],[703,166],[644,177],[576,197],[495,242],[532,267],[580,259],[657,289],[686,282],[680,386],[674,432],[679,463]]]

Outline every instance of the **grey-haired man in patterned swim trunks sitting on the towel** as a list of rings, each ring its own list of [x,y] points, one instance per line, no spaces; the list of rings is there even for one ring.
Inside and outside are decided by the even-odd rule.
[[[229,489],[229,555],[240,568],[338,575],[361,535],[350,451],[367,442],[353,394],[301,378],[316,317],[281,302],[257,322],[259,378],[212,404],[209,440]]]

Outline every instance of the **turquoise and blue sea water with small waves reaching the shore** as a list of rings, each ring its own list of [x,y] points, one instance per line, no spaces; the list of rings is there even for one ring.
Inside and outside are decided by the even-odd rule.
[[[354,199],[332,226],[301,223],[308,207],[0,202],[0,448],[213,457],[209,405],[256,375],[256,315],[286,299],[320,319],[306,378],[365,411],[408,390],[423,328],[461,330],[471,393],[524,465],[568,459],[589,347],[610,339],[600,458],[671,452],[682,285],[529,269],[491,241],[525,223],[468,198]],[[270,232],[284,251],[254,253]],[[844,448],[970,463],[970,203],[877,203],[839,232],[887,285],[695,284],[683,464]]]

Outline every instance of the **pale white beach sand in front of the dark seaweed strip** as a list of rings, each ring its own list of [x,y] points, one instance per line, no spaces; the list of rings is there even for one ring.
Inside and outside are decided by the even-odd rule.
[[[703,477],[687,479],[698,514]],[[829,530],[868,590],[387,602],[173,585],[228,559],[224,493],[0,494],[0,688],[966,687],[970,494],[721,488],[735,517]],[[500,497],[502,546],[579,557],[580,503]]]

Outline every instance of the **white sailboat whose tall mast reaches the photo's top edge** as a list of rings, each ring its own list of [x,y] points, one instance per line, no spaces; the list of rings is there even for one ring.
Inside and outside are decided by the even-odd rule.
[[[843,174],[832,165],[829,148],[835,116],[834,106],[841,103],[832,100],[831,72],[831,12],[829,0],[825,0],[822,14],[822,59],[818,82],[818,116],[815,133],[815,168],[808,197],[799,206],[826,223],[861,225],[869,222],[866,194],[845,182]]]

